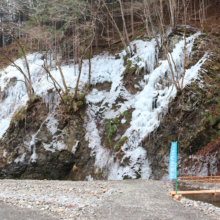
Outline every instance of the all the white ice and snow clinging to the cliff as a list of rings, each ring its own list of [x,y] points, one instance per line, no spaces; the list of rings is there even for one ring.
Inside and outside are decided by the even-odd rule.
[[[190,59],[190,52],[192,50],[193,41],[200,33],[194,34],[187,38],[187,56]],[[160,61],[159,67],[154,69],[158,61],[158,51],[156,49],[156,41],[151,42],[136,40],[132,44],[137,46],[137,54],[131,60],[132,65],[138,65],[139,69],[136,74],[143,68],[146,72],[144,82],[141,83],[143,90],[136,95],[131,95],[123,86],[123,72],[125,67],[123,65],[123,56],[125,51],[119,54],[120,59],[115,59],[114,56],[104,53],[102,55],[94,56],[92,63],[92,85],[103,82],[111,82],[111,89],[107,91],[98,91],[93,89],[87,95],[87,119],[85,119],[85,127],[87,129],[86,139],[89,141],[89,147],[92,149],[92,155],[96,157],[97,169],[101,168],[108,177],[108,179],[123,179],[124,177],[136,178],[137,175],[141,178],[149,178],[151,170],[147,160],[147,152],[141,146],[141,141],[147,137],[157,126],[159,126],[160,118],[167,112],[168,103],[171,97],[175,97],[176,89],[173,87],[171,72],[168,62],[166,60]],[[176,44],[172,52],[176,67],[180,73],[183,69],[183,46],[184,41]],[[58,97],[54,93],[48,93],[48,90],[53,89],[53,84],[43,72],[43,60],[41,54],[29,54],[28,60],[30,63],[31,77],[33,88],[36,95],[39,95],[49,105],[50,102],[58,102]],[[198,71],[201,65],[206,60],[204,56],[197,64],[186,71],[184,86],[198,77]],[[16,61],[25,72],[27,72],[23,59]],[[66,79],[67,86],[70,87],[71,92],[74,92],[78,72],[77,66],[62,66],[62,70]],[[80,89],[85,88],[88,81],[89,63],[84,60],[82,67],[82,75],[80,79]],[[0,88],[4,91],[4,98],[0,106],[0,137],[5,133],[9,127],[13,114],[25,106],[28,100],[25,86],[22,81],[17,81],[14,85],[9,85],[11,78],[16,77],[17,80],[23,80],[20,72],[12,66],[3,70],[0,77]],[[57,68],[51,71],[53,77],[62,85]],[[181,79],[180,79],[181,82]],[[8,88],[7,88],[8,86]],[[113,104],[118,97],[126,98],[127,101],[118,105],[117,111],[112,109]],[[100,103],[99,107],[97,103]],[[152,104],[154,103],[154,105]],[[155,106],[156,103],[156,108]],[[119,161],[115,161],[110,150],[101,145],[101,134],[96,127],[97,120],[102,121],[106,118],[115,118],[123,113],[125,110],[134,108],[130,127],[123,136],[128,137],[128,141],[122,146],[124,156],[122,161],[129,159],[129,162],[124,166],[120,166]],[[52,107],[50,107],[52,109]],[[97,118],[99,113],[100,118]],[[57,121],[53,118],[53,113],[48,116],[44,123],[47,123],[48,129],[52,134],[56,132]],[[37,134],[37,133],[36,133]],[[32,142],[27,145],[34,145],[35,135],[33,135]],[[56,140],[51,145],[45,145],[45,149],[54,152],[55,150],[65,149],[63,143],[58,143]],[[74,153],[74,146],[73,146]],[[20,158],[22,160],[22,158]],[[32,160],[37,160],[37,155],[32,155]],[[91,177],[92,178],[92,177]]]

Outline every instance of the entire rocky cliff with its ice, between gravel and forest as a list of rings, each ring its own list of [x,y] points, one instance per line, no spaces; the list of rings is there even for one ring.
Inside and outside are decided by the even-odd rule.
[[[164,52],[157,50],[154,39],[133,41],[137,54],[132,58],[123,51],[94,56],[86,105],[71,114],[63,111],[40,65],[35,65],[41,63],[38,54],[29,57],[36,93],[31,103],[26,103],[18,73],[13,74],[12,67],[2,71],[0,178],[166,178],[172,141],[178,141],[180,174],[193,173],[198,165],[190,158],[216,142],[220,122],[220,58],[207,53],[210,39],[197,31],[187,30],[181,93],[175,90]],[[182,38],[181,27],[168,36],[179,73]],[[87,82],[87,67],[85,60],[81,88]],[[74,91],[76,80],[68,68],[63,66]],[[60,80],[56,74],[54,70]],[[198,173],[216,172],[211,161],[217,163],[213,158],[218,159],[218,143],[209,157],[211,165],[206,157]]]

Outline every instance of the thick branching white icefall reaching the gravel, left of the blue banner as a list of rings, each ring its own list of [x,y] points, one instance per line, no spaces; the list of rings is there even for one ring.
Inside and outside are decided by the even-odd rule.
[[[190,58],[194,39],[199,34],[200,33],[196,33],[187,38],[186,52],[188,58]],[[170,97],[175,97],[176,95],[176,89],[173,87],[168,62],[166,60],[161,61],[160,65],[154,69],[155,62],[157,62],[155,40],[152,40],[151,42],[138,40],[132,42],[132,44],[137,45],[137,54],[130,58],[132,65],[137,64],[139,69],[144,68],[145,72],[149,72],[149,74],[145,75],[145,85],[143,90],[136,95],[131,95],[123,87],[122,81],[120,81],[121,79],[119,77],[123,74],[125,69],[125,67],[123,69],[122,66],[122,57],[125,55],[125,52],[123,51],[119,54],[121,62],[115,63],[114,65],[114,70],[117,71],[118,69],[117,81],[112,81],[114,84],[109,95],[105,92],[106,98],[103,100],[102,93],[99,92],[100,100],[102,100],[101,106],[97,107],[96,105],[93,105],[94,101],[92,94],[87,96],[90,106],[87,110],[89,118],[86,138],[89,140],[89,146],[92,148],[92,152],[96,156],[96,166],[103,170],[104,175],[106,175],[108,179],[135,179],[137,176],[143,179],[148,179],[150,177],[151,169],[147,159],[147,152],[142,147],[141,142],[143,138],[147,137],[150,132],[159,126],[161,116],[167,112]],[[178,70],[180,83],[182,80],[180,73],[183,72],[183,47],[184,41],[182,40],[176,44],[172,52]],[[186,70],[184,86],[197,79],[198,72],[206,60],[206,57],[207,55],[204,55],[204,57],[194,66]],[[108,59],[110,59],[110,57]],[[114,77],[114,72],[112,77]],[[117,89],[115,90],[115,88]],[[129,99],[123,104],[120,103],[120,108],[117,111],[113,111],[111,106],[119,95],[122,97],[124,95],[125,97],[129,97]],[[102,116],[98,117],[97,115],[100,113],[100,109],[106,106],[106,103],[108,103],[108,106],[110,107],[102,113]],[[156,105],[153,105],[152,103],[156,103]],[[156,108],[153,108],[153,106],[156,106]],[[114,118],[119,116],[120,113],[130,108],[134,108],[135,110],[132,114],[130,127],[123,135],[128,137],[128,141],[121,148],[124,156],[120,161],[114,161],[114,156],[110,153],[110,150],[101,145],[101,134],[98,131],[96,122],[103,120],[104,118]],[[127,162],[123,163],[125,160]],[[123,166],[121,164],[123,164]]]

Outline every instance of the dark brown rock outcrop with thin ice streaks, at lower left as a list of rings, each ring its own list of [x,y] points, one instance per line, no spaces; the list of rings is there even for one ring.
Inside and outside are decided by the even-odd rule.
[[[23,114],[1,140],[0,178],[86,179],[94,160],[80,114],[64,120],[38,98]]]

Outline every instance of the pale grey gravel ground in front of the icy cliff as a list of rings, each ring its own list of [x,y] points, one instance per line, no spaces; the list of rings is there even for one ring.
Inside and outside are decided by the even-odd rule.
[[[0,216],[5,220],[220,218],[219,209],[209,212],[190,200],[170,198],[170,189],[170,184],[152,180],[0,180]]]

